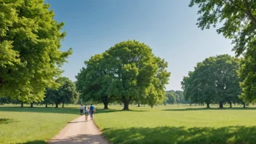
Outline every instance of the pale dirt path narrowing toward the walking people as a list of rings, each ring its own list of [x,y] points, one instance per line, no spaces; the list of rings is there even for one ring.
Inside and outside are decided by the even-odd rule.
[[[108,142],[100,135],[100,130],[97,129],[94,122],[84,121],[84,116],[74,119],[60,131],[49,143],[51,144],[68,144],[68,143],[100,143],[107,144]],[[88,116],[88,119],[89,116]]]

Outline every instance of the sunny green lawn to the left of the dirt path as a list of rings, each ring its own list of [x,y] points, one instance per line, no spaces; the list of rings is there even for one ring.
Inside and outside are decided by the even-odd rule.
[[[0,143],[45,143],[78,116],[79,105],[68,105],[68,108],[1,105]]]

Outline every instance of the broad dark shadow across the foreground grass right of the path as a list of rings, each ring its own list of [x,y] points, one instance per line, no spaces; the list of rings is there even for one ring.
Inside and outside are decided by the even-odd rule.
[[[103,129],[113,143],[256,143],[256,127]]]

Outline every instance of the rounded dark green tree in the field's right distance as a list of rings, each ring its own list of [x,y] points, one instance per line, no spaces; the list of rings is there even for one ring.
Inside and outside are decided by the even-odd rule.
[[[194,71],[185,76],[182,85],[185,98],[190,98],[193,103],[223,103],[232,104],[240,95],[238,59],[229,55],[209,57],[198,63]]]

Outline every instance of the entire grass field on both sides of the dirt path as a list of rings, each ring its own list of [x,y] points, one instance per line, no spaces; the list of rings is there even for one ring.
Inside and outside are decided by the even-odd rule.
[[[27,106],[27,105],[25,105]],[[214,107],[214,106],[212,106]],[[256,107],[206,109],[201,106],[148,106],[108,111],[97,105],[95,123],[113,143],[256,143]],[[0,143],[45,143],[79,114],[68,108],[0,106]]]

